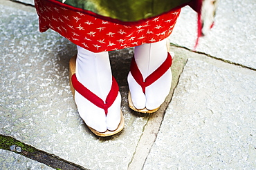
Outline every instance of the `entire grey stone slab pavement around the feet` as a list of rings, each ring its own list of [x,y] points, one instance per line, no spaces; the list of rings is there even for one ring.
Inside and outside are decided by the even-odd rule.
[[[125,129],[94,136],[68,84],[75,45],[38,31],[35,8],[0,0],[0,169],[256,169],[256,3],[222,0],[212,31],[196,38],[190,8],[170,36],[174,80],[149,116],[127,105],[133,49],[110,52]]]

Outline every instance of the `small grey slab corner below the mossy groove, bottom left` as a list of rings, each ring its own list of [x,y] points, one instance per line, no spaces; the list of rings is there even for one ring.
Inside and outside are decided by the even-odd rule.
[[[0,149],[0,169],[19,170],[19,169],[33,169],[33,170],[52,170],[53,168],[46,166],[35,160],[26,158],[12,151]]]

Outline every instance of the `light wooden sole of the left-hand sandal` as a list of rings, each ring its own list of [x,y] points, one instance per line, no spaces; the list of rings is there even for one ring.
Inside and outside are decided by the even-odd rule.
[[[71,87],[71,92],[73,94],[73,97],[75,97],[75,89],[73,87],[71,77],[73,74],[75,74],[75,64],[76,64],[76,55],[73,56],[69,61],[69,85]],[[92,127],[89,127],[88,125],[87,125],[87,127],[89,127],[89,129],[93,132],[93,134],[95,134],[97,136],[101,136],[101,137],[107,137],[107,136],[112,136],[114,134],[118,134],[125,127],[125,118],[122,115],[122,111],[120,111],[120,115],[121,115],[121,120],[118,125],[118,128],[115,131],[107,130],[105,132],[99,132],[99,131],[96,131],[95,129],[93,129]]]

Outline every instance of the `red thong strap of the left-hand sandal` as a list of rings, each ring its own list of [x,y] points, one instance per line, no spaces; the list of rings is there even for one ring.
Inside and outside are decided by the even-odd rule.
[[[118,96],[118,92],[119,92],[118,83],[116,82],[116,79],[113,76],[112,76],[112,86],[109,94],[107,95],[105,103],[101,98],[99,98],[98,96],[93,94],[93,92],[91,92],[89,89],[84,87],[82,83],[77,81],[77,77],[75,76],[75,74],[73,74],[71,81],[72,81],[73,87],[78,93],[80,93],[82,96],[84,96],[84,98],[89,100],[94,105],[104,109],[105,114],[107,116],[107,111],[109,107],[111,107],[113,102],[116,100],[116,97]]]

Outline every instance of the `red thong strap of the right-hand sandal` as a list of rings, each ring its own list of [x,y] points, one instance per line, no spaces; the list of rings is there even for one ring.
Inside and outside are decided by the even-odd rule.
[[[145,94],[146,87],[151,85],[152,83],[154,83],[161,76],[163,76],[163,74],[165,74],[165,72],[167,72],[167,70],[170,69],[171,65],[172,65],[172,56],[168,52],[167,58],[162,63],[162,65],[160,65],[160,67],[158,67],[154,72],[152,72],[152,74],[147,76],[145,81],[143,81],[143,75],[141,74],[140,70],[138,69],[136,61],[133,57],[133,59],[131,60],[130,71],[131,71],[131,75],[134,77],[136,82],[141,86],[141,88],[143,89],[143,92]]]

